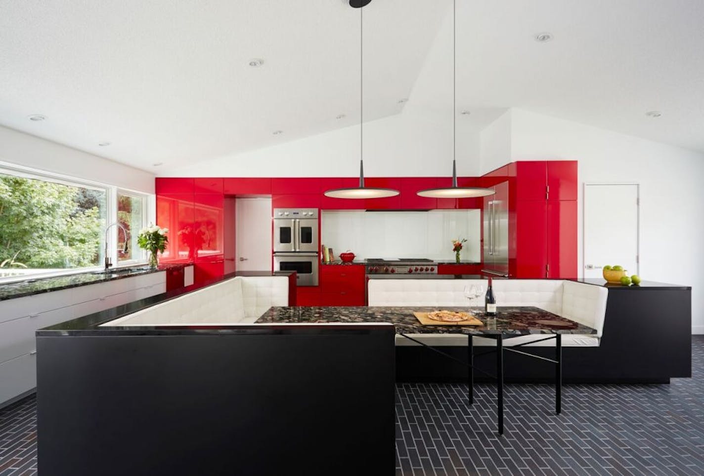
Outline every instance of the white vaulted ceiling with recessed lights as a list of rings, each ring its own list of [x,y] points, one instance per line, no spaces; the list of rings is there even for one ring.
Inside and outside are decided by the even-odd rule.
[[[704,1],[456,1],[458,121],[517,107],[704,151]],[[365,8],[365,120],[451,114],[451,6]],[[0,0],[0,124],[154,172],[348,127],[359,25],[343,0]]]

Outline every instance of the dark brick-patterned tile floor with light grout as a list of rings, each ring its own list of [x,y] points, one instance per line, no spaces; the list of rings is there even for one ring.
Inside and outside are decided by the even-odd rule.
[[[692,378],[670,385],[508,385],[496,435],[493,385],[400,384],[397,475],[704,475],[704,336]],[[0,410],[0,476],[37,474],[34,397]]]

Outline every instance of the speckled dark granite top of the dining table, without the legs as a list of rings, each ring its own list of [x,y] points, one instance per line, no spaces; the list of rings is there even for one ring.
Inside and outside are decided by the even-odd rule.
[[[596,330],[537,307],[498,307],[496,316],[472,308],[483,326],[424,326],[414,311],[437,311],[437,307],[272,307],[256,323],[362,323],[389,322],[397,334],[596,334]],[[467,311],[467,307],[443,307]]]

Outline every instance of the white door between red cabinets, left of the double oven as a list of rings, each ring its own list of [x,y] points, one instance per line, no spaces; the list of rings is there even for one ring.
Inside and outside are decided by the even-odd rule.
[[[237,271],[271,271],[271,198],[237,198]]]

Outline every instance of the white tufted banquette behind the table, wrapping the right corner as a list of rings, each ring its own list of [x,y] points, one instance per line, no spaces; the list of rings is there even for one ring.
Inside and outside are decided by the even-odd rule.
[[[479,279],[370,279],[368,299],[370,306],[467,306],[464,296],[467,285],[482,284]],[[574,281],[546,279],[494,280],[494,295],[499,306],[534,306],[553,312],[572,321],[596,329],[596,335],[562,335],[567,347],[597,347],[604,327],[608,290],[601,286]],[[427,345],[467,345],[467,336],[461,334],[414,334],[410,337]],[[506,345],[532,342],[545,335],[512,337]],[[474,345],[495,345],[485,337],[474,337]],[[396,345],[418,345],[396,336]],[[532,345],[555,345],[554,340]]]

